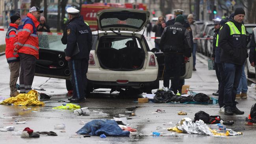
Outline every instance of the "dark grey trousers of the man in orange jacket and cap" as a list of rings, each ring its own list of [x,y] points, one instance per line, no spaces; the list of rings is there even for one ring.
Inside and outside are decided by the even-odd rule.
[[[20,57],[20,93],[28,93],[31,90],[35,76],[35,56],[19,53]]]

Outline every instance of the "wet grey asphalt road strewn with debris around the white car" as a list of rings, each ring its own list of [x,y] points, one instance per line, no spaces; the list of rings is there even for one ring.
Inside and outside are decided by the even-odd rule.
[[[197,57],[197,71],[193,72],[191,79],[186,79],[185,84],[191,85],[191,90],[195,92],[202,92],[209,94],[217,90],[217,81],[215,78],[214,71],[207,70],[207,65],[205,65],[206,60],[200,55]],[[44,78],[37,77],[40,81]],[[36,79],[37,79],[36,78]],[[37,81],[37,82],[38,82]],[[50,101],[64,100],[67,101],[65,84],[61,82],[63,80],[59,79],[45,79],[41,88],[46,89],[45,92],[52,95]],[[37,83],[36,84],[40,84]],[[4,83],[2,83],[5,86]],[[52,88],[56,85],[58,88]],[[160,87],[162,87],[163,82],[160,81]],[[7,89],[7,88],[6,88]],[[52,92],[54,90],[54,92]],[[5,93],[5,89],[2,90]],[[256,140],[256,127],[255,126],[245,126],[245,117],[249,114],[250,107],[256,102],[255,100],[255,89],[249,87],[248,95],[249,97],[245,100],[238,100],[239,104],[237,107],[242,111],[245,111],[244,115],[234,115],[225,116],[224,114],[219,114],[218,105],[199,105],[199,104],[180,104],[180,103],[137,103],[136,95],[119,96],[118,92],[114,94],[109,94],[109,91],[101,89],[100,91],[94,91],[91,98],[87,98],[85,103],[80,103],[81,107],[89,107],[91,116],[77,116],[72,113],[72,110],[56,110],[53,107],[59,106],[64,102],[46,102],[44,107],[31,107],[31,110],[23,111],[22,109],[28,108],[26,106],[13,106],[13,105],[0,105],[0,126],[15,126],[16,130],[22,130],[25,127],[30,127],[34,131],[54,131],[58,136],[41,136],[40,138],[29,138],[24,139],[20,136],[12,135],[11,131],[0,132],[0,143],[8,142],[13,143],[53,143],[53,144],[63,144],[63,143],[102,143],[102,144],[112,144],[112,143],[139,143],[139,144],[155,144],[155,143],[185,143],[185,144],[198,144],[199,143],[242,143],[247,144],[254,142]],[[0,96],[3,97],[1,94]],[[217,97],[215,97],[217,98]],[[48,101],[48,100],[45,100]],[[128,120],[129,126],[137,129],[137,132],[131,133],[130,137],[107,137],[100,138],[98,136],[93,136],[89,138],[72,138],[76,131],[83,127],[84,122],[90,122],[94,119],[107,118],[111,119],[118,117],[118,114],[127,114],[126,108],[135,108],[135,118]],[[166,113],[153,114],[152,112],[157,109],[163,109]],[[109,113],[109,116],[102,116],[96,114],[95,111],[102,111],[103,113]],[[187,116],[179,116],[178,111],[187,112]],[[210,137],[204,135],[195,134],[184,134],[184,133],[173,133],[173,135],[166,137],[153,137],[150,134],[154,131],[158,132],[169,132],[166,130],[168,127],[173,127],[184,117],[194,118],[194,114],[198,111],[205,111],[210,115],[220,115],[223,120],[235,120],[235,124],[232,126],[236,128],[235,131],[243,132],[241,136],[232,137]],[[129,114],[127,114],[129,116]],[[26,124],[15,124],[15,120],[28,120]],[[171,126],[164,126],[165,122],[173,122]],[[54,129],[56,124],[65,124],[65,133],[61,129]],[[157,129],[156,127],[163,127],[163,129]],[[1,129],[1,128],[0,128]],[[139,136],[142,134],[142,136]]]

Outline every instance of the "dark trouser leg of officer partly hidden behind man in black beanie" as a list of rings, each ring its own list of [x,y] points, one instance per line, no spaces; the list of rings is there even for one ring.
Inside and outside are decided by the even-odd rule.
[[[215,70],[216,70],[216,75],[217,75],[217,71],[219,72],[219,107],[223,107],[224,103],[223,103],[223,99],[224,99],[224,87],[225,87],[225,73],[224,73],[224,69],[223,69],[223,65],[222,63],[215,63]]]

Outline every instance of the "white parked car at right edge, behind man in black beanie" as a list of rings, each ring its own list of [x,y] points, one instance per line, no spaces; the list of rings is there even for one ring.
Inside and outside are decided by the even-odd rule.
[[[250,36],[252,36],[252,29],[255,27],[256,27],[256,24],[245,24],[245,28],[250,33]],[[250,52],[249,46],[250,46],[250,42],[249,44],[247,44],[248,53]],[[255,78],[255,68],[250,65],[249,57],[246,59],[246,66],[247,66],[247,77]]]

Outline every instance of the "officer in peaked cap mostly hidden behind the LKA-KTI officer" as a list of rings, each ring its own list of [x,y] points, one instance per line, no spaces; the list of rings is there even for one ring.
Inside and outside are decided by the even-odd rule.
[[[163,23],[162,28],[165,28],[166,26],[174,25],[176,17],[178,15],[182,15],[184,12],[184,10],[182,10],[182,9],[174,9],[173,11],[174,11],[174,18],[171,20],[168,20],[166,23]],[[191,30],[189,23],[186,20],[184,20],[182,22],[182,25],[189,31],[190,43],[191,43],[191,46],[193,46],[193,35],[192,35],[192,30]],[[172,79],[171,79],[171,81],[172,81]],[[179,92],[181,92],[182,85],[184,85],[184,83],[185,83],[185,79],[180,79],[179,89],[178,89]],[[173,89],[173,85],[171,85],[171,89]]]

